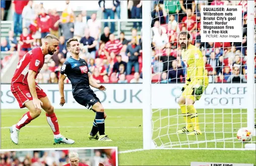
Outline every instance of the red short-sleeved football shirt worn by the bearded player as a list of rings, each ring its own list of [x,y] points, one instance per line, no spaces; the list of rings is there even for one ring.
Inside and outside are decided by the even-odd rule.
[[[12,84],[28,85],[28,71],[33,70],[37,74],[44,64],[44,55],[41,47],[27,52],[20,60],[14,73]],[[35,78],[36,78],[35,76]]]

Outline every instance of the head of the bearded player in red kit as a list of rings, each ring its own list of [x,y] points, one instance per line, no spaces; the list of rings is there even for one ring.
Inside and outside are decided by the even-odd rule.
[[[47,35],[43,40],[43,54],[44,55],[53,55],[54,52],[57,50],[59,40],[54,35]]]

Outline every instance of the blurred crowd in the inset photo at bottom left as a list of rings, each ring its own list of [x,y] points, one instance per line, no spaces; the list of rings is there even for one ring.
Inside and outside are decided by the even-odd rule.
[[[69,150],[33,151],[32,156],[29,152],[24,156],[19,154],[19,151],[2,151],[0,157],[0,166],[62,166],[70,162]],[[80,163],[91,166],[98,166],[99,162],[111,166],[108,157],[97,149],[94,150],[93,156],[79,159]]]

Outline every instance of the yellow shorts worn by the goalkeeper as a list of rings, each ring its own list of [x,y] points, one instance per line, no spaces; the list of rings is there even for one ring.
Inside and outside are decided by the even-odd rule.
[[[206,88],[208,87],[209,85],[209,80],[208,80],[208,77],[205,78],[204,80],[204,83],[203,83],[203,94],[202,95],[195,95],[195,90],[193,89],[193,87],[197,84],[196,81],[194,82],[190,82],[185,90],[182,92],[181,96],[184,97],[184,98],[189,98],[189,99],[192,99],[194,101],[197,101],[197,100],[200,100],[201,96],[204,94],[204,91],[206,90]]]

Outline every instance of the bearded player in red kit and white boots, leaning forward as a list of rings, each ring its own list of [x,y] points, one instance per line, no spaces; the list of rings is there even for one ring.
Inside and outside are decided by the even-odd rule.
[[[53,131],[55,143],[73,144],[75,142],[60,134],[54,108],[47,95],[35,82],[35,78],[44,64],[44,56],[53,55],[58,44],[58,38],[53,35],[46,36],[42,47],[27,52],[17,65],[11,82],[11,91],[20,108],[27,107],[29,111],[10,128],[11,139],[16,144],[19,143],[20,129],[38,117],[41,114],[41,109],[46,112],[46,119]]]

